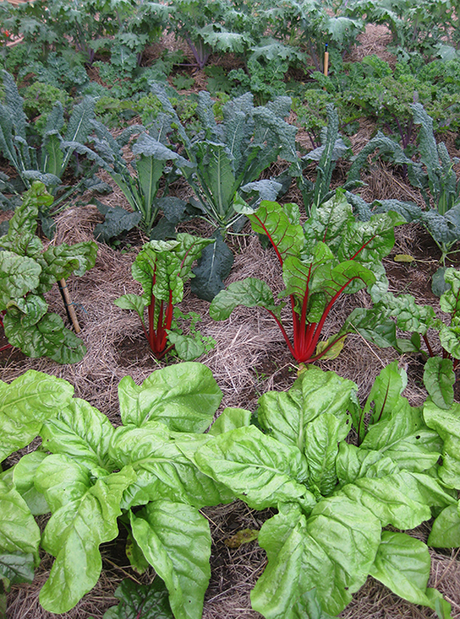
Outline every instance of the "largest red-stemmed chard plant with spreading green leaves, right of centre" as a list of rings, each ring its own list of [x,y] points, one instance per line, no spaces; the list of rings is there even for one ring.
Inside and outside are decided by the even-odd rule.
[[[375,296],[388,282],[382,258],[394,244],[396,213],[374,216],[369,222],[355,220],[342,192],[316,209],[302,227],[299,208],[264,201],[257,211],[241,210],[254,232],[266,235],[283,269],[286,286],[279,298],[289,298],[292,340],[283,324],[285,302],[276,304],[268,284],[248,278],[230,284],[212,301],[214,320],[225,320],[237,305],[263,307],[278,324],[298,363],[313,363],[339,354],[347,334],[342,329],[320,341],[325,322],[342,294],[370,288]],[[351,330],[351,329],[349,329]]]

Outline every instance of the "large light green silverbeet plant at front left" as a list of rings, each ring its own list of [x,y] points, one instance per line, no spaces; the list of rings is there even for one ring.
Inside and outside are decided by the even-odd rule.
[[[203,434],[222,399],[211,371],[182,363],[140,386],[124,377],[117,428],[73,398],[67,381],[41,372],[0,381],[0,394],[0,462],[42,439],[0,474],[0,585],[21,578],[21,565],[30,580],[41,547],[55,560],[40,603],[65,613],[96,585],[99,546],[120,525],[129,530],[133,567],[143,573],[151,565],[169,592],[172,615],[159,616],[201,619],[211,535],[199,510],[233,498],[192,460],[219,428]],[[49,512],[40,535],[35,516]]]

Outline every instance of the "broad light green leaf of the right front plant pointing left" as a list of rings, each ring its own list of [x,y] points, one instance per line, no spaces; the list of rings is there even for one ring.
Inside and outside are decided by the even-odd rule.
[[[204,473],[254,509],[294,501],[311,509],[316,503],[304,485],[308,465],[302,453],[255,426],[216,437],[197,451],[195,460]]]

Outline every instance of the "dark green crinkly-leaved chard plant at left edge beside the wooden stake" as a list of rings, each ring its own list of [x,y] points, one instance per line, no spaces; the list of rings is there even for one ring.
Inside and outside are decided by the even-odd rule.
[[[39,209],[53,197],[35,181],[0,237],[0,312],[8,342],[29,357],[50,357],[58,363],[81,361],[86,348],[65,328],[57,314],[48,312],[44,294],[56,281],[83,275],[96,261],[97,245],[50,245],[43,251],[35,236]]]

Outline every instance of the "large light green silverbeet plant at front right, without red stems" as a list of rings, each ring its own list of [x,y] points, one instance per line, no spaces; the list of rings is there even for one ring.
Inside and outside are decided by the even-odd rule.
[[[403,531],[433,510],[428,545],[460,544],[460,405],[412,408],[401,396],[406,381],[396,362],[382,371],[359,446],[350,435],[363,414],[356,385],[308,366],[289,391],[259,399],[260,429],[240,422],[195,453],[203,473],[252,509],[277,510],[259,532],[268,563],[251,593],[266,619],[335,617],[368,575],[451,617],[427,587],[427,545]]]

